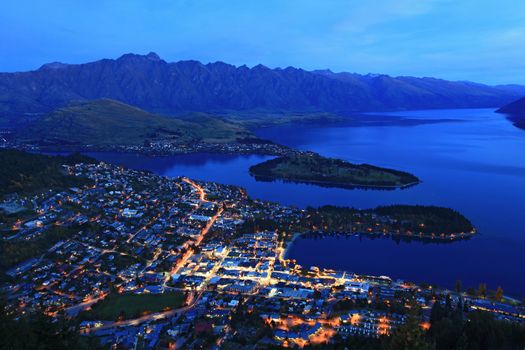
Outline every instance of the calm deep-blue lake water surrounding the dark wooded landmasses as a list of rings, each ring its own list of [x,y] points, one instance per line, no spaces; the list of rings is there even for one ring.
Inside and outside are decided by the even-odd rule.
[[[325,156],[409,171],[423,181],[420,185],[382,191],[257,182],[248,174],[248,168],[270,158],[263,156],[92,155],[161,175],[239,185],[252,197],[299,207],[451,207],[473,221],[478,236],[453,244],[395,242],[388,238],[299,238],[288,256],[304,266],[388,275],[447,287],[452,287],[457,279],[465,287],[485,282],[491,289],[501,285],[509,295],[525,296],[525,131],[487,109],[410,111],[381,116],[408,118],[412,122],[293,125],[257,133],[262,138]],[[427,123],[432,120],[440,122]],[[421,124],[417,125],[418,121]]]

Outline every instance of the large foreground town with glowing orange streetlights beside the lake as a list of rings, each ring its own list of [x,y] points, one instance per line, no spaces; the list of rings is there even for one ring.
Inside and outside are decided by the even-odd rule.
[[[413,319],[428,329],[436,304],[525,323],[523,305],[502,295],[300,266],[286,255],[293,237],[335,230],[315,227],[312,211],[103,162],[63,168],[89,182],[0,205],[19,213],[1,224],[3,259],[12,265],[3,290],[11,312],[76,320],[78,332],[101,344],[264,348],[379,339]],[[317,213],[322,222],[326,214]],[[353,215],[353,233],[390,234],[396,224]],[[31,249],[17,261],[21,246]]]

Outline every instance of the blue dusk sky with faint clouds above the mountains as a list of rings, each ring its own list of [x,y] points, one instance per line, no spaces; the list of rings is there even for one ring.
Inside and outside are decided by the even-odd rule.
[[[13,0],[0,33],[0,71],[154,51],[525,84],[525,0]]]

